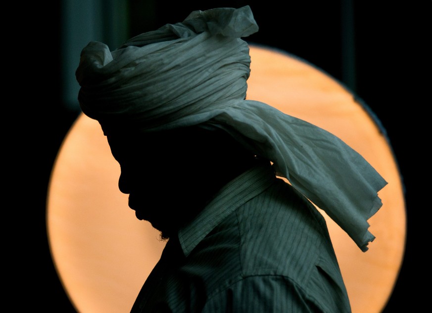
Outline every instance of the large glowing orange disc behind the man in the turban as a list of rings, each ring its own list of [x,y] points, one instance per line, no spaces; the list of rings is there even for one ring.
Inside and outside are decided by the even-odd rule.
[[[323,212],[353,313],[379,313],[397,279],[406,237],[399,171],[386,138],[364,107],[332,77],[284,52],[251,46],[247,98],[320,126],[366,158],[388,185],[369,221],[377,237],[363,253]],[[63,286],[81,313],[129,312],[164,243],[136,219],[120,193],[118,163],[99,124],[80,115],[51,174],[47,227]]]

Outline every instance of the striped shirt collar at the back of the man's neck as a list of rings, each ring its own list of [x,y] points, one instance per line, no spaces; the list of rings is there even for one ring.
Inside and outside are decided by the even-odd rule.
[[[275,179],[273,167],[266,161],[225,185],[191,223],[180,229],[179,241],[185,256],[225,217],[267,189]]]

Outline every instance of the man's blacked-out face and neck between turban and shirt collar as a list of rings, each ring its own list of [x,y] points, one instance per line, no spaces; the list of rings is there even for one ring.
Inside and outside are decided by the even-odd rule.
[[[163,238],[189,221],[257,158],[223,130],[200,126],[107,136],[129,207]]]

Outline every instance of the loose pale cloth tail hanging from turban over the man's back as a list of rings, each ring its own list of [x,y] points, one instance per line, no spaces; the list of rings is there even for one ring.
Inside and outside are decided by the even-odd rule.
[[[257,101],[227,107],[212,121],[273,161],[281,176],[368,250],[375,237],[367,220],[382,207],[378,191],[387,182],[361,155],[328,131]]]

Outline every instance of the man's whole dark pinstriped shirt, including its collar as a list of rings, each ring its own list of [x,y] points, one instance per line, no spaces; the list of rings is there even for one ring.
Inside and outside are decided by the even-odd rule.
[[[323,216],[266,163],[169,239],[131,312],[351,310]]]

